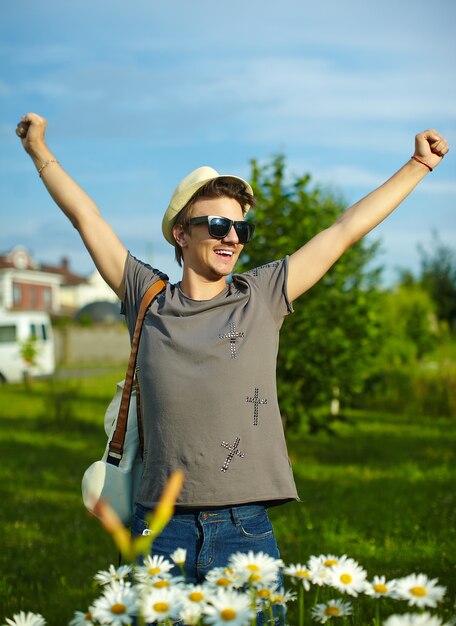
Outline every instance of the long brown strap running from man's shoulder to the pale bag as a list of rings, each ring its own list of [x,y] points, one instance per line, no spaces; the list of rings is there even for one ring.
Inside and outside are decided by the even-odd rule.
[[[125,375],[125,384],[120,401],[116,430],[111,441],[109,442],[109,453],[106,462],[111,465],[119,465],[122,459],[125,435],[127,433],[128,410],[130,408],[131,391],[133,388],[139,339],[141,337],[144,317],[154,298],[156,298],[165,288],[166,282],[159,279],[147,289],[143,299],[141,300],[138,317],[136,319],[135,332],[133,333],[133,339],[131,342],[130,359],[128,361],[127,373]]]

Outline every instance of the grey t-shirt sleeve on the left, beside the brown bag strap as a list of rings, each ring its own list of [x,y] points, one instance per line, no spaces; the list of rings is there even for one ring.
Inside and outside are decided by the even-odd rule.
[[[146,290],[159,279],[168,280],[168,276],[128,253],[124,269],[125,295],[121,313],[125,315],[130,336],[133,335],[141,300]]]

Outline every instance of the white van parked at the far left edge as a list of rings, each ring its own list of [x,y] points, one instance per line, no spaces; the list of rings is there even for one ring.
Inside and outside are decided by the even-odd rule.
[[[21,348],[32,337],[36,339],[36,359],[29,365]],[[48,313],[0,310],[0,382],[19,382],[25,376],[45,376],[54,371],[54,336]]]

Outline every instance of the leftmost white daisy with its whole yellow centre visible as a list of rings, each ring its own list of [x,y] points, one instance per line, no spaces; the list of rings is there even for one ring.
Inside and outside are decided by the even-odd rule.
[[[102,624],[121,626],[130,624],[136,615],[136,591],[130,583],[118,581],[105,587],[103,595],[95,600],[92,615]]]

